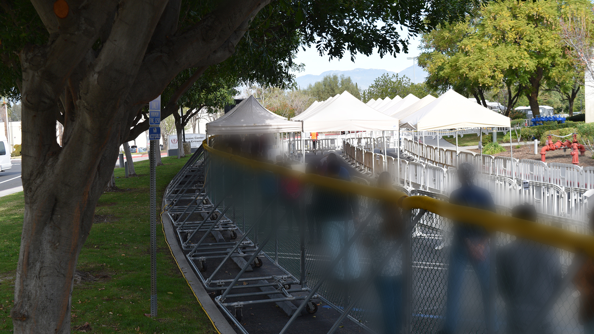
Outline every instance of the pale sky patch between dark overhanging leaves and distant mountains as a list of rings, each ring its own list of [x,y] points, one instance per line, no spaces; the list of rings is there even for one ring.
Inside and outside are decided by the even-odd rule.
[[[406,57],[418,56],[421,51],[419,47],[419,38],[410,40],[409,53],[399,53],[396,58],[391,55],[386,55],[380,58],[380,55],[374,53],[371,56],[356,55],[355,62],[350,61],[350,54],[338,60],[336,58],[328,61],[328,56],[320,56],[318,51],[314,48],[309,48],[306,51],[300,50],[297,53],[297,58],[294,62],[305,64],[305,70],[295,73],[297,77],[305,74],[320,75],[324,71],[330,70],[353,70],[353,68],[378,68],[380,70],[400,72],[405,68],[412,66],[412,59]]]

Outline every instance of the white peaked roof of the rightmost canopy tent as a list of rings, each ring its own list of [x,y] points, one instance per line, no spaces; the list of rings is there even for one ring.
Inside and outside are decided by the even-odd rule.
[[[428,105],[400,119],[400,127],[417,131],[510,127],[510,118],[448,90]]]

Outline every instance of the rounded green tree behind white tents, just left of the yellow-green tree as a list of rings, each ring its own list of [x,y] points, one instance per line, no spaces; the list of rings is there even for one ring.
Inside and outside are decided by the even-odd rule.
[[[421,99],[427,94],[436,94],[436,92],[425,83],[415,84],[410,82],[406,75],[400,77],[398,74],[389,75],[384,73],[375,78],[371,86],[363,91],[362,96],[363,102],[368,102],[371,99],[385,99],[386,97],[393,99],[396,95],[405,97],[408,94],[413,94]]]

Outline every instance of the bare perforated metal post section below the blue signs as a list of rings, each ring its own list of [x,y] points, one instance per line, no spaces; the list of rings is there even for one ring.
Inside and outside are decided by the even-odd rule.
[[[157,316],[157,140],[150,141],[150,316]]]

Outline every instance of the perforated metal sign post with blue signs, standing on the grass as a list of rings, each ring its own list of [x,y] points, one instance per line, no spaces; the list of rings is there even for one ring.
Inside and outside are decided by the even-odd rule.
[[[149,102],[150,165],[150,316],[157,316],[157,154],[161,137],[161,96]]]

